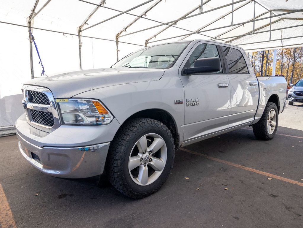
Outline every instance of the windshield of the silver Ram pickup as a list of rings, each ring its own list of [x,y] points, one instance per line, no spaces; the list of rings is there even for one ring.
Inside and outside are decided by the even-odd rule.
[[[174,65],[188,44],[180,42],[148,47],[124,57],[112,67],[167,69]]]

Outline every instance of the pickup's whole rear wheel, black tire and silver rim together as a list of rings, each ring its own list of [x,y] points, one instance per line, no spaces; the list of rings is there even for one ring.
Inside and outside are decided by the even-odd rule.
[[[268,102],[261,119],[252,125],[258,139],[271,140],[275,137],[278,128],[278,108],[275,103]]]

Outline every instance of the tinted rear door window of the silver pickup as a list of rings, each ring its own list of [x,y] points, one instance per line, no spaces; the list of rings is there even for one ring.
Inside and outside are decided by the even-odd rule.
[[[244,57],[239,50],[223,46],[222,49],[230,74],[248,73],[248,68],[245,63]]]

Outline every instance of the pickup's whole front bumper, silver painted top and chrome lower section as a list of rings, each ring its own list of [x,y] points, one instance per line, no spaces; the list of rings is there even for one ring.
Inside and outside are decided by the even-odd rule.
[[[16,121],[19,150],[25,159],[48,175],[87,178],[103,173],[110,141],[120,124],[104,126],[61,125],[51,133],[36,129],[25,114]]]

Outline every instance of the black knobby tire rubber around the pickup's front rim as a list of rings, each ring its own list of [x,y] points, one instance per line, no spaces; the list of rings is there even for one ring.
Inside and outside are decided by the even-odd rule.
[[[128,159],[127,151],[129,148],[133,147],[133,139],[138,136],[142,131],[147,130],[148,128],[158,128],[167,134],[169,138],[169,142],[165,141],[167,148],[171,147],[171,154],[168,153],[168,156],[171,156],[171,159],[167,158],[167,161],[170,160],[171,164],[169,165],[168,172],[164,173],[163,170],[163,181],[160,185],[156,186],[153,189],[148,189],[145,191],[135,191],[127,181],[125,177],[125,172],[128,173],[128,168],[124,168],[125,159]],[[170,144],[170,145],[168,145]],[[161,186],[164,184],[168,175],[170,173],[171,168],[173,167],[173,161],[175,158],[175,145],[174,138],[171,135],[169,129],[160,121],[149,119],[149,118],[135,118],[127,123],[124,123],[119,131],[116,133],[114,140],[110,144],[110,148],[108,151],[107,161],[106,161],[106,169],[108,172],[109,181],[111,184],[124,195],[129,196],[134,199],[141,199],[146,196],[149,196],[155,192],[157,192]],[[165,165],[165,167],[166,167]],[[161,176],[162,176],[161,174]],[[129,175],[129,174],[128,174]],[[160,176],[160,177],[161,177]],[[159,177],[159,178],[160,178]],[[143,186],[145,187],[145,186]]]

